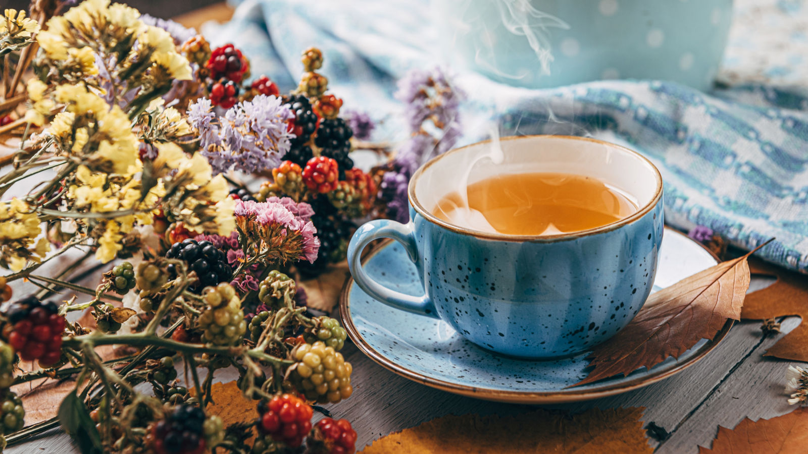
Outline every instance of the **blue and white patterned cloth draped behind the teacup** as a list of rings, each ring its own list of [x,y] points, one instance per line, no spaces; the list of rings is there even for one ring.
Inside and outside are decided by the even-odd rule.
[[[330,89],[346,107],[383,120],[375,139],[394,141],[405,129],[395,82],[436,61],[437,27],[427,11],[427,0],[243,0],[231,22],[204,33],[213,44],[242,48],[251,73],[267,74],[281,90],[296,85],[301,50],[318,46]],[[799,8],[781,12],[805,15]],[[748,40],[740,41],[730,39],[733,60],[725,69],[743,61]],[[705,225],[746,249],[774,237],[760,256],[808,273],[808,90],[755,82],[708,95],[657,81],[529,90],[476,74],[455,80],[469,94],[464,143],[482,138],[482,124],[494,118],[503,135],[589,133],[628,145],[662,171],[669,224]]]

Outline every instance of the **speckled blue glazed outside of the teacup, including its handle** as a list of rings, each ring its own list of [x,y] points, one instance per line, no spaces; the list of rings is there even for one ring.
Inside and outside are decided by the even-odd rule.
[[[651,291],[663,238],[661,197],[635,221],[562,241],[478,238],[412,208],[410,217],[409,225],[377,220],[357,230],[348,257],[360,287],[399,309],[436,315],[481,347],[524,358],[571,355],[628,324]],[[406,245],[426,288],[411,305],[353,266],[351,257],[383,237]]]

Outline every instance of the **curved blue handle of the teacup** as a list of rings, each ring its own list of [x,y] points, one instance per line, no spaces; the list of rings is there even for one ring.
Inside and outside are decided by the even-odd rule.
[[[438,318],[435,305],[424,292],[423,296],[412,296],[397,292],[372,280],[362,267],[362,251],[368,243],[378,238],[393,238],[400,242],[413,263],[418,263],[418,248],[415,246],[415,231],[412,222],[401,224],[389,219],[369,221],[356,230],[348,245],[348,267],[356,284],[373,298],[396,309]]]

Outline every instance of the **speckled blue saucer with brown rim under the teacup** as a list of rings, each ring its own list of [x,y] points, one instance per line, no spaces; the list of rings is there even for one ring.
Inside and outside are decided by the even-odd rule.
[[[665,229],[654,290],[712,267],[717,260],[682,233]],[[380,284],[411,295],[423,294],[415,265],[397,242],[387,242],[364,259],[364,269]],[[491,401],[557,403],[582,401],[650,385],[682,371],[713,350],[729,332],[726,322],[713,339],[702,339],[678,359],[650,370],[566,388],[582,380],[588,361],[583,352],[564,359],[513,359],[483,350],[462,338],[446,322],[390,308],[348,279],[339,301],[348,336],[385,368],[424,385]]]

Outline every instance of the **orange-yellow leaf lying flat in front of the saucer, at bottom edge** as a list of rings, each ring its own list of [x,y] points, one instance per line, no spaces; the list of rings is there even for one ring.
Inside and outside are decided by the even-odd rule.
[[[516,416],[448,415],[377,439],[363,454],[651,453],[642,408],[592,409],[572,416],[536,410]]]

